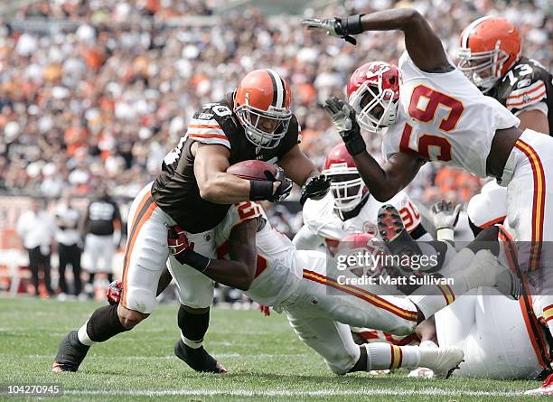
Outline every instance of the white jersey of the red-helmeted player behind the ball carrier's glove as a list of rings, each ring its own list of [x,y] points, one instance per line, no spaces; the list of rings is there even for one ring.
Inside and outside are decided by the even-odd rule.
[[[334,212],[334,199],[331,192],[319,201],[308,199],[304,205],[304,222],[312,233],[320,238],[331,249],[348,235],[354,233],[370,233],[377,235],[377,217],[380,207],[391,204],[398,210],[406,229],[409,232],[417,229],[420,224],[420,214],[409,198],[407,192],[398,192],[391,200],[377,201],[369,196],[359,214],[349,220],[341,220]]]

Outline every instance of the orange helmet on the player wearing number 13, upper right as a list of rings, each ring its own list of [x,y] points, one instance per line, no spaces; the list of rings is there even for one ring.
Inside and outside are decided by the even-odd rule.
[[[461,33],[459,70],[484,93],[520,58],[517,28],[501,17],[483,17]]]

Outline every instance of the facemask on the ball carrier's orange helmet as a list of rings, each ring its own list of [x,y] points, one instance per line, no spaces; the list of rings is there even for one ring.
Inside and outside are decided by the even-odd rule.
[[[287,108],[270,106],[267,110],[260,110],[246,102],[236,108],[236,115],[244,126],[249,142],[264,149],[273,149],[286,136],[292,111]]]

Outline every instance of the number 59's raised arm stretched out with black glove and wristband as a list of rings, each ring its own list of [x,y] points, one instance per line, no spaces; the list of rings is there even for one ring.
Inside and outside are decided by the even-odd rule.
[[[310,29],[321,29],[330,35],[350,39],[348,42],[353,39],[351,35],[367,31],[403,31],[405,48],[420,70],[442,72],[450,66],[440,38],[426,19],[413,8],[350,15],[345,18],[305,19],[303,23]]]

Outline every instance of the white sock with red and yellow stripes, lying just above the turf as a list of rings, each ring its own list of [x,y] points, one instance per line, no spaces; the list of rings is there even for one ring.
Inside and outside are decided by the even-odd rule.
[[[417,346],[396,346],[385,342],[374,342],[365,343],[365,349],[367,350],[367,371],[418,366]]]

